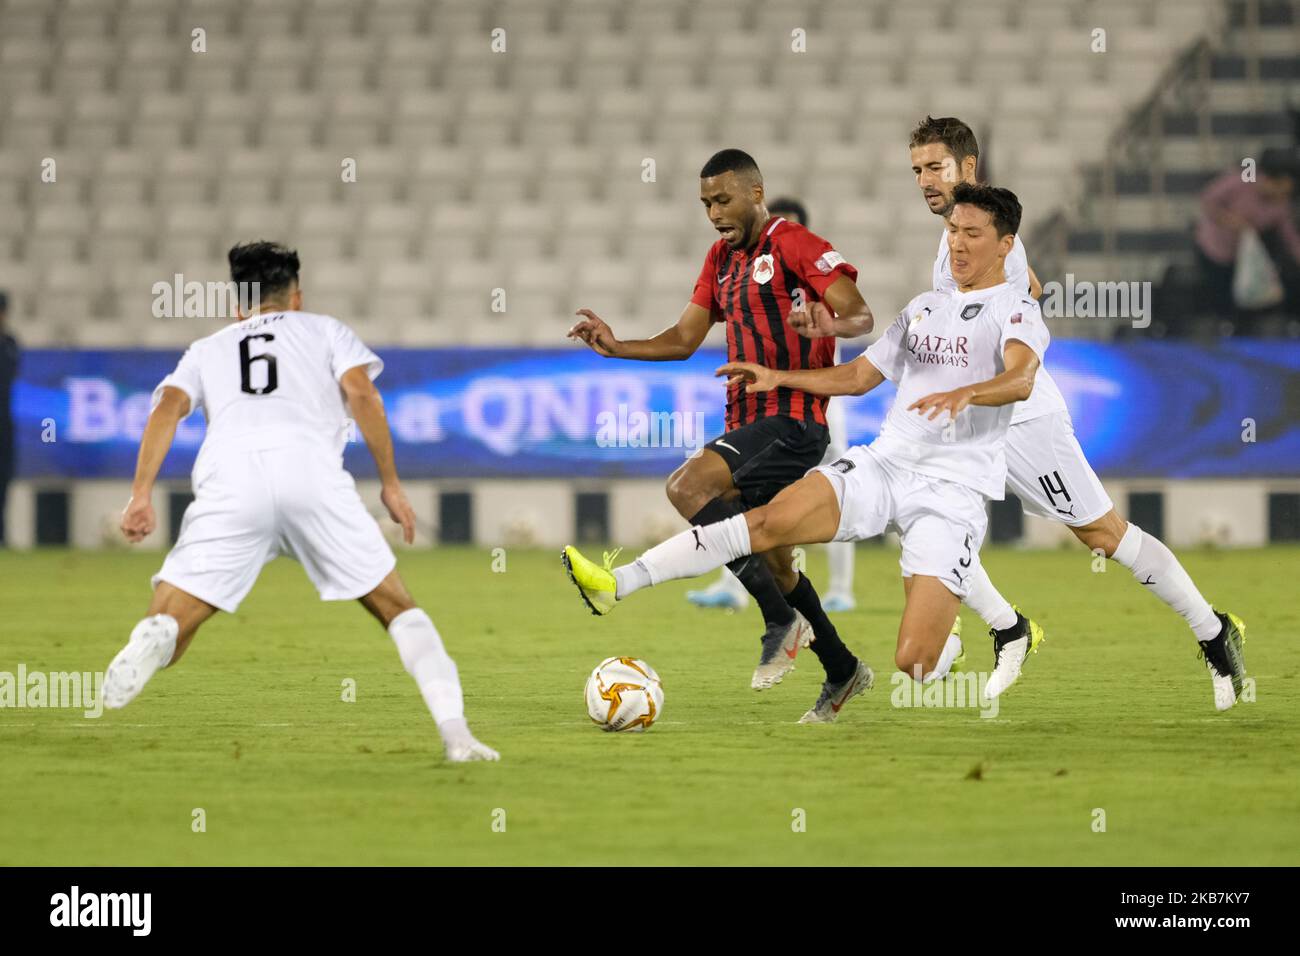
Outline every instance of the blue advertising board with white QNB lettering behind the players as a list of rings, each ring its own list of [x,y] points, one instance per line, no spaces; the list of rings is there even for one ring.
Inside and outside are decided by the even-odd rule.
[[[660,477],[723,428],[720,350],[688,362],[584,349],[380,350],[406,477]],[[174,351],[25,352],[14,386],[20,477],[130,477],[150,395]],[[1124,477],[1300,473],[1300,342],[1056,341],[1048,367],[1093,467]],[[888,382],[845,403],[870,442]],[[183,477],[203,416],[182,423],[164,477]],[[1253,438],[1253,441],[1251,440]],[[373,475],[365,447],[348,467]]]

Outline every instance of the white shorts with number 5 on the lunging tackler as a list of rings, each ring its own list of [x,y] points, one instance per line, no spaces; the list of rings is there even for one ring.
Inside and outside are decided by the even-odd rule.
[[[930,575],[961,598],[970,593],[988,528],[983,494],[893,464],[866,445],[812,471],[827,476],[840,501],[836,541],[897,531],[904,578]]]

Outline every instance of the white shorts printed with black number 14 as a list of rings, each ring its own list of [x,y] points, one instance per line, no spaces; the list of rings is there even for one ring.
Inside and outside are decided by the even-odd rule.
[[[1006,486],[1020,499],[1024,514],[1075,528],[1114,507],[1063,412],[1040,415],[1008,429]]]

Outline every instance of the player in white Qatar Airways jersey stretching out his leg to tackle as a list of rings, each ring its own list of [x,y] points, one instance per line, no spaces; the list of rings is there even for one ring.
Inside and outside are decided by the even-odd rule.
[[[946,639],[979,570],[985,505],[1006,485],[1011,406],[1030,395],[1048,346],[1037,303],[1004,276],[1019,202],[1006,190],[963,185],[956,203],[949,243],[958,287],[914,298],[861,358],[796,372],[740,362],[719,369],[749,392],[861,395],[894,381],[898,397],[880,436],[814,468],[770,505],[682,532],[630,564],[601,567],[566,548],[564,566],[588,606],[608,613],[641,588],[770,548],[858,541],[893,528],[906,596],[894,663],[916,680],[946,671]],[[833,721],[871,684],[859,661],[850,679],[823,684],[800,722]]]

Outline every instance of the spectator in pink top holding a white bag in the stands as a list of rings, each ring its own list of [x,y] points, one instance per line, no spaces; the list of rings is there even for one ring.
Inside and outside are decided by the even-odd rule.
[[[1232,276],[1245,229],[1258,233],[1284,290],[1282,311],[1300,315],[1300,233],[1296,232],[1291,196],[1296,161],[1286,150],[1265,150],[1257,178],[1244,182],[1234,168],[1201,193],[1196,222],[1196,259],[1206,306],[1221,316],[1236,313]]]

